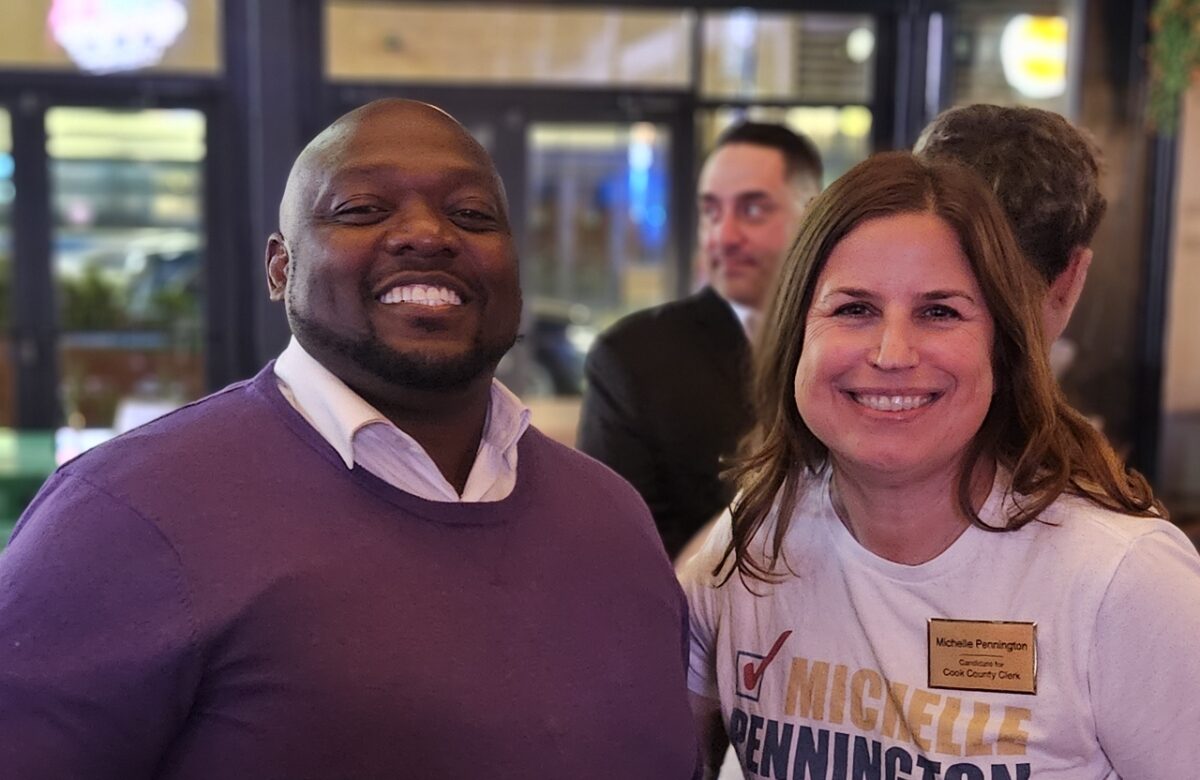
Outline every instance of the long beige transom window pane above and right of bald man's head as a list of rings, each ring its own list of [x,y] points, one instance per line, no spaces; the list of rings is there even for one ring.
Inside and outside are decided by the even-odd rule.
[[[337,80],[685,86],[692,16],[683,10],[325,5],[326,73]]]

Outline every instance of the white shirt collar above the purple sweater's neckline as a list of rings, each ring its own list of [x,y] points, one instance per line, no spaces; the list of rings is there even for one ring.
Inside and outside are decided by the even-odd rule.
[[[275,361],[275,376],[287,385],[296,410],[337,451],[346,468],[354,468],[354,434],[359,430],[374,422],[396,427],[310,355],[295,336]],[[481,446],[509,451],[529,427],[529,408],[493,378]],[[400,432],[412,439],[403,431]],[[420,449],[415,440],[413,444]]]

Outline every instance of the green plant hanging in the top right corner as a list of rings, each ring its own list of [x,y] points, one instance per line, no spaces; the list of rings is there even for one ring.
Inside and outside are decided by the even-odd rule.
[[[1200,0],[1158,0],[1150,14],[1151,127],[1170,136],[1180,120],[1180,98],[1200,67]]]

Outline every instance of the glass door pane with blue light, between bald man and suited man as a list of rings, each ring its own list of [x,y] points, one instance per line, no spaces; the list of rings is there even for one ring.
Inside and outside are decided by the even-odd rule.
[[[595,334],[672,296],[666,127],[535,124],[523,268],[534,320],[534,391],[580,392]]]

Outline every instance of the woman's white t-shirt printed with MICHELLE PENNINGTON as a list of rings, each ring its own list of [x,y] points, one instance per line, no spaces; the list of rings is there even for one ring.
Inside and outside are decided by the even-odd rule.
[[[997,487],[980,517],[1001,524],[1002,500]],[[773,533],[770,518],[755,545]],[[1018,532],[971,527],[908,566],[848,534],[826,475],[785,539],[794,574],[718,587],[728,539],[726,514],[682,572],[689,686],[720,700],[748,778],[1200,776],[1200,556],[1170,523],[1063,497]],[[952,650],[938,665],[958,677],[935,688],[930,618],[1033,623],[1036,637]],[[1036,692],[995,690],[998,668],[1034,659],[1020,684]]]

